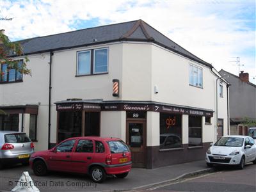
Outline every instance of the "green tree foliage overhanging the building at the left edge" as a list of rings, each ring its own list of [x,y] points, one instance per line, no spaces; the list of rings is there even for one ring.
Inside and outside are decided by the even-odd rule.
[[[23,56],[24,61],[22,65],[18,65],[19,61],[13,59],[13,57],[10,57],[10,55]],[[8,64],[6,71],[2,71],[2,67],[0,65],[0,78],[2,78],[4,74],[8,73],[11,68],[16,68],[21,74],[31,76],[31,70],[27,68],[29,59],[24,55],[22,46],[19,42],[11,42],[8,36],[3,34],[3,31],[0,31],[0,62],[1,64]],[[0,114],[6,113],[0,109]]]

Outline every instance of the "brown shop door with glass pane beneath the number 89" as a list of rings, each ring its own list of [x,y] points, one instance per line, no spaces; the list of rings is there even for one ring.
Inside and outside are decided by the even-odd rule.
[[[144,121],[127,121],[126,129],[126,143],[131,149],[132,166],[145,168],[146,123]]]

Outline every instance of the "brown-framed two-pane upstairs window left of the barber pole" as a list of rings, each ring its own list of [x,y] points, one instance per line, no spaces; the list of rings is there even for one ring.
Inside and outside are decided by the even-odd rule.
[[[77,52],[77,76],[108,72],[108,48]]]

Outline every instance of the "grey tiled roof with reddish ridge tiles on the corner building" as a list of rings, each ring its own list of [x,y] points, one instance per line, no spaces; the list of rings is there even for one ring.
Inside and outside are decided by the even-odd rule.
[[[56,35],[29,38],[20,40],[20,44],[23,47],[24,54],[33,54],[116,41],[154,42],[191,60],[212,67],[211,64],[201,60],[191,54],[191,52],[186,51],[186,49],[180,47],[180,45],[175,44],[175,42],[149,26],[143,20],[134,20]]]

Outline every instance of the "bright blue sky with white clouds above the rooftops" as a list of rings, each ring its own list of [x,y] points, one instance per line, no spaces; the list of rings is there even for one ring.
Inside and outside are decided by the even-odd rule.
[[[142,19],[217,70],[256,84],[256,1],[0,0],[10,40]],[[254,78],[254,79],[253,79]]]

